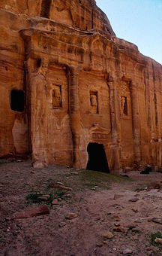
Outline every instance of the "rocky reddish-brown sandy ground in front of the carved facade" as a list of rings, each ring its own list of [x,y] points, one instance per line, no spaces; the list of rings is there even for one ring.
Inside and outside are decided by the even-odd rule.
[[[162,224],[152,221],[162,218],[162,190],[144,189],[162,174],[136,171],[124,178],[61,166],[33,169],[30,160],[1,160],[0,173],[0,255],[162,255],[151,244],[152,234],[162,233]],[[52,188],[57,181],[73,190]],[[27,200],[34,194],[49,194],[58,204],[49,203],[48,215],[10,220],[37,206]],[[67,219],[70,212],[76,218]]]

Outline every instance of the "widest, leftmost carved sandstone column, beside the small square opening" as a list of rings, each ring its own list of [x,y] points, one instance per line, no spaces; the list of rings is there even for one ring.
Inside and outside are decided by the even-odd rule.
[[[33,166],[46,166],[47,160],[47,95],[46,70],[48,61],[38,59],[26,61],[26,72],[30,93],[30,132]],[[36,66],[36,67],[35,67]]]

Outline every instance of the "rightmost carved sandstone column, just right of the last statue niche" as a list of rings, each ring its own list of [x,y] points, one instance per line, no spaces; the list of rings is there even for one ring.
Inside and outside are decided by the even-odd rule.
[[[130,84],[131,107],[132,107],[132,123],[133,123],[133,148],[134,148],[134,161],[140,163],[140,125],[139,125],[139,102],[137,84]]]

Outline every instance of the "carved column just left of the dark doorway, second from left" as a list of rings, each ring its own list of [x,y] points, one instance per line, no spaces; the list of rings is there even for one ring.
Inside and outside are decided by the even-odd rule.
[[[73,67],[68,68],[69,84],[69,114],[71,118],[71,132],[73,136],[73,164],[79,167],[80,145],[80,99],[79,99],[79,71]]]

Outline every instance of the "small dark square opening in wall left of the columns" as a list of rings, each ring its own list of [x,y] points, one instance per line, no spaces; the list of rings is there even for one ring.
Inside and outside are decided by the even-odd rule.
[[[13,111],[24,111],[24,91],[11,90],[10,92],[10,108]]]

